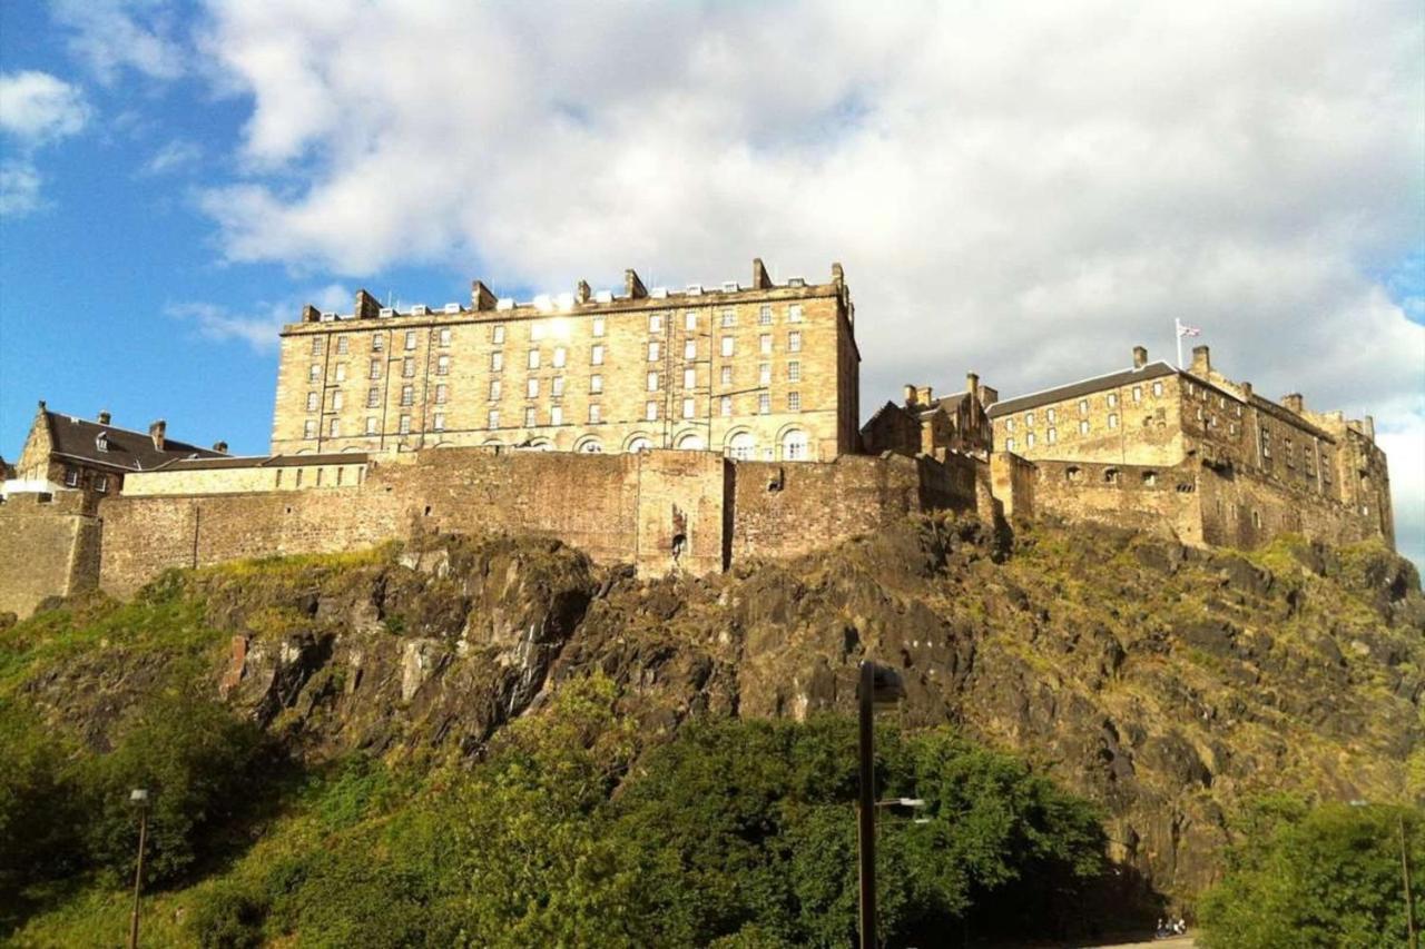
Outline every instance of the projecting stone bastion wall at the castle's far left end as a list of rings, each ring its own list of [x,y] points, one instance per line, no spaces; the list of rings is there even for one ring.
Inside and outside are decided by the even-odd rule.
[[[11,494],[0,504],[0,613],[98,583],[100,523],[83,492]]]

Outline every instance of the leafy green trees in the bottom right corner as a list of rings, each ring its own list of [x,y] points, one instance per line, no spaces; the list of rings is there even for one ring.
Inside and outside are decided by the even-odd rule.
[[[1210,949],[1405,946],[1402,832],[1419,922],[1425,814],[1398,805],[1264,798],[1238,831],[1227,875],[1201,902]]]

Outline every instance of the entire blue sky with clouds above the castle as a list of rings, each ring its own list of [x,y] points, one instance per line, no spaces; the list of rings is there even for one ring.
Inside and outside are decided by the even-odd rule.
[[[862,406],[1173,321],[1374,415],[1425,563],[1415,1],[0,3],[0,455],[37,399],[266,450],[276,331],[626,266],[856,301]]]

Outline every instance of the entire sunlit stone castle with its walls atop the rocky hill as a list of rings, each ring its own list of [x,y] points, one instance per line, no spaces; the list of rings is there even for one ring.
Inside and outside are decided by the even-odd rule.
[[[41,402],[0,503],[0,611],[170,567],[423,531],[544,534],[644,574],[788,557],[912,512],[1043,514],[1254,547],[1394,544],[1371,419],[1149,362],[1000,400],[906,386],[859,423],[855,308],[831,279],[580,282],[520,304],[312,306],[281,333],[272,453],[235,457]]]

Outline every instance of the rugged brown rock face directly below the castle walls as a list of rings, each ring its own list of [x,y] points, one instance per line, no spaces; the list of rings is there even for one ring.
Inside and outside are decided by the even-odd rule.
[[[872,657],[906,684],[886,724],[952,722],[1036,761],[1104,804],[1112,856],[1180,898],[1218,872],[1224,815],[1244,798],[1401,797],[1421,754],[1425,600],[1414,569],[1377,549],[1247,559],[912,519],[703,579],[596,570],[557,541],[446,537],[182,583],[221,633],[204,688],[316,758],[477,754],[596,671],[650,740],[697,715],[851,711]],[[70,680],[31,688],[57,714],[95,712]]]

